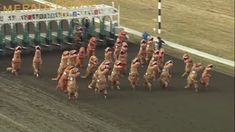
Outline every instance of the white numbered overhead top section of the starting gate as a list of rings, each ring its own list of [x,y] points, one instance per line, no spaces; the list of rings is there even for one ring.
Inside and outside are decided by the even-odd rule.
[[[57,23],[61,20],[67,20],[69,23],[73,19],[98,18],[102,20],[104,17],[110,17],[110,20],[113,21],[114,16],[119,17],[119,11],[113,6],[103,4],[70,8],[1,11],[0,30],[4,24],[10,24],[12,29],[16,23],[21,23],[24,27],[29,22],[36,25],[40,21],[48,24],[52,20],[56,20]]]

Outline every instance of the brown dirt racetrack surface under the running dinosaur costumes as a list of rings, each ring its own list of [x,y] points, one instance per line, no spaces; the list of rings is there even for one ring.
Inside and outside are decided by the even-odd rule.
[[[98,47],[103,59],[104,47]],[[132,59],[138,47],[129,45]],[[232,132],[234,130],[234,78],[212,72],[208,90],[195,93],[184,89],[183,62],[173,59],[173,78],[168,90],[159,82],[152,92],[142,86],[132,91],[127,77],[121,90],[109,89],[107,100],[94,95],[87,85],[91,78],[79,79],[79,98],[69,101],[56,91],[55,76],[62,51],[42,53],[41,77],[33,77],[33,55],[22,57],[21,74],[5,72],[11,56],[0,57],[0,131],[1,132]],[[166,51],[167,52],[167,51]],[[141,68],[141,78],[145,68]],[[84,73],[84,69],[81,69]]]

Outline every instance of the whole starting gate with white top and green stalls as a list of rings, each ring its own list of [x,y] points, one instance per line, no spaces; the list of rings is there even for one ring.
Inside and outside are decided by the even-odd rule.
[[[14,49],[18,45],[23,47],[35,45],[50,47],[53,43],[60,46],[66,41],[72,43],[74,42],[75,21],[81,22],[80,24],[86,29],[84,38],[88,39],[90,34],[105,39],[105,37],[110,36],[106,31],[106,26],[114,29],[113,23],[117,23],[117,20],[114,19],[118,16],[119,11],[116,8],[103,4],[69,8],[1,11],[0,50],[4,48]],[[105,24],[105,17],[110,18],[110,25]],[[99,23],[95,22],[95,19],[99,19]],[[56,32],[51,31],[50,26],[53,26],[50,24],[51,21],[56,21]],[[68,23],[67,31],[64,30],[62,21]],[[40,22],[45,23],[45,33],[40,32],[42,29]],[[23,31],[21,31],[21,34],[16,33],[17,24],[22,25]],[[97,24],[100,24],[99,33],[95,33]],[[10,31],[10,35],[6,34],[7,30]],[[31,30],[34,30],[34,32],[32,33]],[[53,36],[56,37],[56,42],[53,42]],[[67,36],[67,39],[65,39],[65,36]],[[22,40],[20,43],[17,41],[19,38]]]

